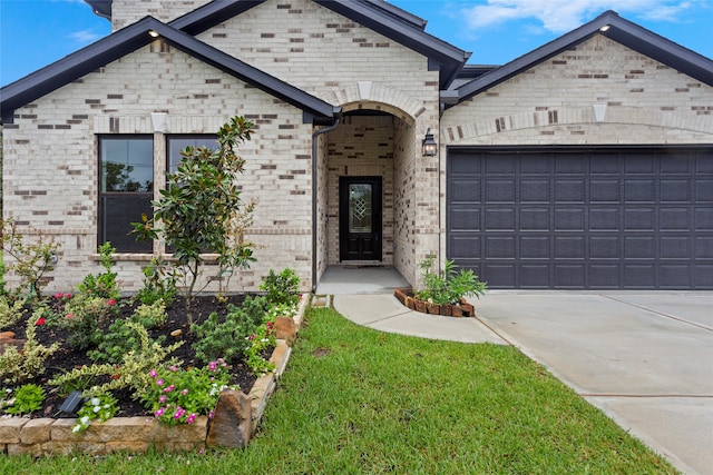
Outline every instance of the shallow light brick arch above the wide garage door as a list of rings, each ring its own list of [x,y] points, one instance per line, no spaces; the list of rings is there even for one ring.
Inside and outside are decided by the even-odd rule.
[[[594,125],[596,127],[617,123],[711,136],[711,121],[710,116],[617,106],[608,107],[604,120],[598,122],[592,107],[553,108],[547,111],[488,117],[471,122],[447,125],[443,127],[441,140],[446,145],[455,145],[469,139],[500,133],[508,135],[528,129],[545,130],[561,126],[589,127]],[[587,129],[584,130],[586,132]]]

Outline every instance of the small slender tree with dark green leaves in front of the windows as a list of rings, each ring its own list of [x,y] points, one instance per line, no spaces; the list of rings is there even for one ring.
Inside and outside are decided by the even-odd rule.
[[[196,284],[203,274],[202,253],[218,255],[221,269],[247,267],[252,245],[231,239],[231,222],[241,206],[237,177],[245,160],[235,154],[237,145],[250,140],[254,123],[234,117],[218,130],[218,149],[186,147],[175,174],[168,175],[168,187],[153,201],[154,216],[141,216],[134,222],[137,239],[163,237],[173,248],[179,274],[188,325],[193,325],[191,304],[203,288]],[[207,284],[206,284],[207,285]]]

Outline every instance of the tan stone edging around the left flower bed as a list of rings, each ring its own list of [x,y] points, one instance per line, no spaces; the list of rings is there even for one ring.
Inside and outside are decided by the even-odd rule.
[[[309,296],[303,296],[297,315],[293,317],[295,331],[302,324],[307,301]],[[247,424],[250,434],[243,434],[243,439],[235,444],[226,445],[221,443],[221,439],[213,445],[208,444],[206,416],[197,417],[191,425],[180,424],[170,427],[150,416],[114,417],[105,423],[91,423],[79,434],[71,432],[76,418],[2,417],[0,418],[0,454],[102,455],[118,451],[145,452],[149,446],[164,452],[193,451],[207,446],[245,446],[260,423],[270,396],[277,387],[277,380],[285,370],[291,353],[292,348],[287,340],[277,339],[277,345],[270,358],[270,362],[275,365],[275,372],[258,378],[248,395],[240,393],[240,397],[248,399],[250,406],[246,406],[248,409],[240,415],[244,419],[238,419],[236,425],[240,426],[250,419]],[[219,415],[216,414],[215,419],[218,418]]]

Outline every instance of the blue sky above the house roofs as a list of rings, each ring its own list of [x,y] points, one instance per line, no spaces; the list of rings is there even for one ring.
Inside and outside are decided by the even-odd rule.
[[[139,1],[139,0],[136,0]],[[504,65],[615,10],[713,58],[713,0],[391,0],[426,20],[426,31],[463,50],[470,63]],[[82,0],[0,0],[0,86],[109,34]]]

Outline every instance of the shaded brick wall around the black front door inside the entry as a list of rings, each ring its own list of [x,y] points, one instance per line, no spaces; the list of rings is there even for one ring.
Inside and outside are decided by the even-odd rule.
[[[340,263],[339,178],[382,177],[382,263],[393,264],[392,116],[346,117],[329,136],[329,264]]]

